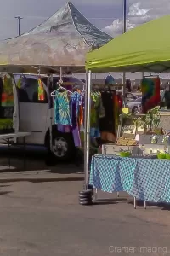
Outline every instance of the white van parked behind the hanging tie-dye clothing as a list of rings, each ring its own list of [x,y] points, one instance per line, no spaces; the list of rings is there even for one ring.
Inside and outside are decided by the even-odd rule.
[[[31,132],[31,136],[26,137],[26,144],[45,145],[50,150],[49,141],[49,125],[50,112],[53,113],[53,154],[56,158],[69,160],[75,154],[75,146],[71,133],[61,133],[54,124],[54,108],[49,109],[48,104],[48,78],[42,77],[42,85],[45,90],[44,101],[38,101],[38,79],[37,75],[25,74],[24,89],[17,88],[17,97],[19,104],[19,131]],[[14,79],[20,79],[20,74],[14,74]],[[65,81],[66,80],[66,81]],[[59,82],[59,77],[54,76],[54,84]],[[82,80],[74,77],[64,78],[64,82],[77,84],[82,90],[84,83]],[[57,86],[57,85],[56,85]],[[54,89],[55,90],[55,89]],[[17,143],[22,143],[22,139],[18,139]]]

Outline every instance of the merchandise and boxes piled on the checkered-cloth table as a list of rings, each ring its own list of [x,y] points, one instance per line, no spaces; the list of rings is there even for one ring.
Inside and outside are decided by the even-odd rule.
[[[130,152],[157,156],[170,153],[170,132],[161,126],[159,107],[150,109],[142,117],[127,114],[127,118],[132,119],[132,125],[122,127],[122,137],[118,137],[116,143],[103,145],[103,154],[122,155],[121,152]]]

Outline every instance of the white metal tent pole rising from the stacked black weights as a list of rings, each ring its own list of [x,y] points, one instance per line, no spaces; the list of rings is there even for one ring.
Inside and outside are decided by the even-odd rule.
[[[92,87],[92,72],[88,71],[88,84],[86,84],[86,99],[85,99],[85,147],[84,147],[84,172],[85,185],[88,188],[88,172],[89,172],[89,151],[90,151],[90,105],[91,105],[91,87]]]

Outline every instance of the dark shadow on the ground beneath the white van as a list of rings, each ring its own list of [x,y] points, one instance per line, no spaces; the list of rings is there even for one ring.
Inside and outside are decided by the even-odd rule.
[[[10,155],[10,166],[8,158]],[[47,163],[48,162],[48,163]],[[11,146],[10,154],[6,145],[0,145],[0,173],[23,172],[23,147]],[[71,174],[82,172],[82,166],[75,161],[56,161],[48,159],[46,148],[26,146],[26,171],[44,171],[46,173]]]

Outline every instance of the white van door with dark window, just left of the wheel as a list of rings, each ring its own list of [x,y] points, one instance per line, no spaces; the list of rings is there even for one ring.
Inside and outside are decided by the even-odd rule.
[[[44,91],[44,100],[38,100],[38,79],[26,78],[24,86],[18,90],[20,131],[31,132],[26,137],[27,144],[44,144],[48,114],[48,97]]]

